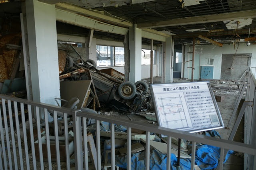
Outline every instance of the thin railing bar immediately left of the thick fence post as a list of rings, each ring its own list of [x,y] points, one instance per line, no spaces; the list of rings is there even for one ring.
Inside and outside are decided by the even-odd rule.
[[[68,140],[68,114],[64,113],[64,134],[65,134],[65,147],[66,147],[66,168],[70,169],[69,157],[69,140]]]

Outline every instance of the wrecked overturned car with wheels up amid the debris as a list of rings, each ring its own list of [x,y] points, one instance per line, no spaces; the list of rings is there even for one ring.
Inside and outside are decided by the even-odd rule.
[[[61,81],[93,80],[96,95],[101,107],[122,112],[144,112],[152,109],[152,98],[148,84],[138,81],[135,84],[123,78],[110,76],[96,68],[92,60],[75,61],[68,57],[66,74],[60,75]]]

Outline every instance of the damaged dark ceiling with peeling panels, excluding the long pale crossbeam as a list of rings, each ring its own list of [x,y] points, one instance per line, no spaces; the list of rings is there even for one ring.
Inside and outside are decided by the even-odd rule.
[[[81,8],[105,14],[113,18],[123,19],[131,23],[154,23],[158,21],[174,20],[187,17],[227,14],[254,10],[256,0],[40,0],[48,4],[67,3]],[[20,3],[20,2],[16,2]],[[9,4],[9,3],[3,3]],[[14,4],[14,3],[10,3]],[[1,8],[1,6],[0,6]],[[4,9],[3,9],[4,10]],[[11,11],[7,12],[11,14]],[[255,12],[254,12],[255,13]],[[253,13],[253,14],[254,14]],[[254,14],[255,15],[255,14]],[[254,16],[253,15],[253,16]],[[58,25],[57,25],[58,26]],[[237,29],[238,26],[238,30]],[[237,33],[240,38],[256,36],[256,16],[235,20],[223,20],[188,25],[161,26],[153,29],[174,35],[175,43],[192,42],[192,37],[203,35],[218,41],[234,39]],[[57,27],[58,29],[58,27]],[[84,29],[84,28],[83,28]],[[240,30],[241,29],[241,30]],[[70,28],[70,30],[73,30]],[[57,30],[58,31],[58,30]],[[81,32],[80,30],[78,32]],[[87,34],[88,30],[83,33]],[[100,32],[100,31],[98,31]],[[217,33],[215,33],[217,32]],[[113,33],[97,33],[101,37],[110,37],[123,41],[124,36]],[[72,34],[72,32],[70,32]],[[73,33],[77,34],[77,33]],[[236,36],[237,37],[237,36]],[[148,43],[148,41],[142,41]]]

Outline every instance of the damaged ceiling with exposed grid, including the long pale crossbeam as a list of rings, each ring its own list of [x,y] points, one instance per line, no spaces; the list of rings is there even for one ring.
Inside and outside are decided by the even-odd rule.
[[[81,9],[79,12],[72,7],[65,10],[89,18],[94,18],[94,16],[87,14],[88,11],[101,16],[112,17],[120,20],[120,24],[117,24],[120,27],[129,27],[132,23],[137,23],[140,28],[153,28],[156,31],[174,35],[175,43],[191,43],[192,38],[198,37],[198,35],[226,43],[228,40],[234,40],[234,38],[248,37],[249,28],[250,37],[256,36],[256,0],[39,1],[56,4],[56,8],[59,8],[60,4],[79,7]],[[83,9],[87,11],[82,12]],[[100,20],[99,18],[94,19]],[[102,21],[113,24],[111,21]],[[124,39],[123,35],[113,33],[95,31],[95,34],[101,37],[105,35],[119,41]],[[200,41],[202,40],[200,39]],[[149,43],[145,39],[142,39],[142,42]]]

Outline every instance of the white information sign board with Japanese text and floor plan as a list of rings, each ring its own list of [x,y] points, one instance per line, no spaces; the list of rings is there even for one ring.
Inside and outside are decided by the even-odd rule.
[[[160,127],[198,132],[224,127],[209,82],[151,84]]]

